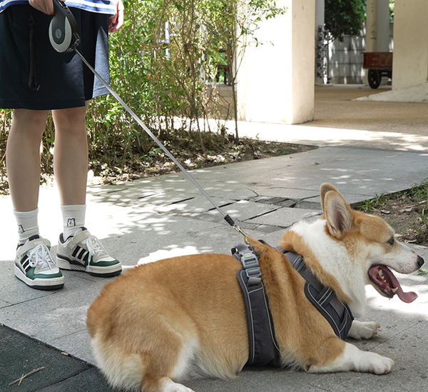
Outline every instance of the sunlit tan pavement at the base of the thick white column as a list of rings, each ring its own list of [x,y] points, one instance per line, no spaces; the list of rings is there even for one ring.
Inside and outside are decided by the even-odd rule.
[[[315,86],[314,121],[301,125],[242,123],[240,135],[317,146],[428,151],[427,103],[358,100],[390,89]],[[232,123],[229,129],[234,129]]]

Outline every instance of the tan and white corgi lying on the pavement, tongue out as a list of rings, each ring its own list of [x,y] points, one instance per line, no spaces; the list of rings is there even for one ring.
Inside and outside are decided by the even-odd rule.
[[[330,184],[320,189],[323,214],[300,221],[280,241],[298,253],[322,285],[354,317],[365,312],[365,286],[411,302],[394,277],[423,259],[394,238],[382,219],[354,211]],[[284,253],[248,238],[260,270],[283,366],[307,372],[384,374],[394,361],[338,338],[305,296],[302,278]],[[136,266],[108,283],[88,309],[93,353],[109,383],[145,392],[192,391],[182,384],[196,370],[230,378],[249,356],[248,321],[237,281],[242,264],[225,254],[168,258]],[[377,322],[352,321],[350,338],[370,339]]]

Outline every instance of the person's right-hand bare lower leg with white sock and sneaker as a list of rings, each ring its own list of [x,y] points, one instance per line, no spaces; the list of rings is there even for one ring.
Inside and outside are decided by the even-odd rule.
[[[64,225],[56,263],[62,269],[115,276],[122,271],[121,263],[109,256],[98,238],[83,227],[88,174],[86,107],[53,111],[56,130],[54,172]]]

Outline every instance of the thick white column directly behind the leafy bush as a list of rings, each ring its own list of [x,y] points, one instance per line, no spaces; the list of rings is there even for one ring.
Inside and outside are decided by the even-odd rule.
[[[247,121],[300,124],[314,114],[315,0],[278,0],[282,16],[260,24],[263,45],[246,49],[238,109]]]

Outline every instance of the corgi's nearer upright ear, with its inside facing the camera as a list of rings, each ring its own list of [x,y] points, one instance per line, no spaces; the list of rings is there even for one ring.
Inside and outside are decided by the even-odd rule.
[[[341,239],[354,227],[352,209],[336,190],[327,191],[325,194],[323,210],[328,231],[333,237]]]

